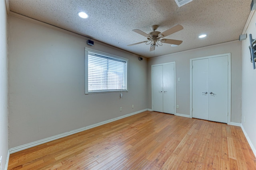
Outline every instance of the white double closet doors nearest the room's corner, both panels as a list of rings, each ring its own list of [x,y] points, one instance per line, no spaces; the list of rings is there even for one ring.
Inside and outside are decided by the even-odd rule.
[[[175,63],[152,65],[152,110],[175,113]]]

